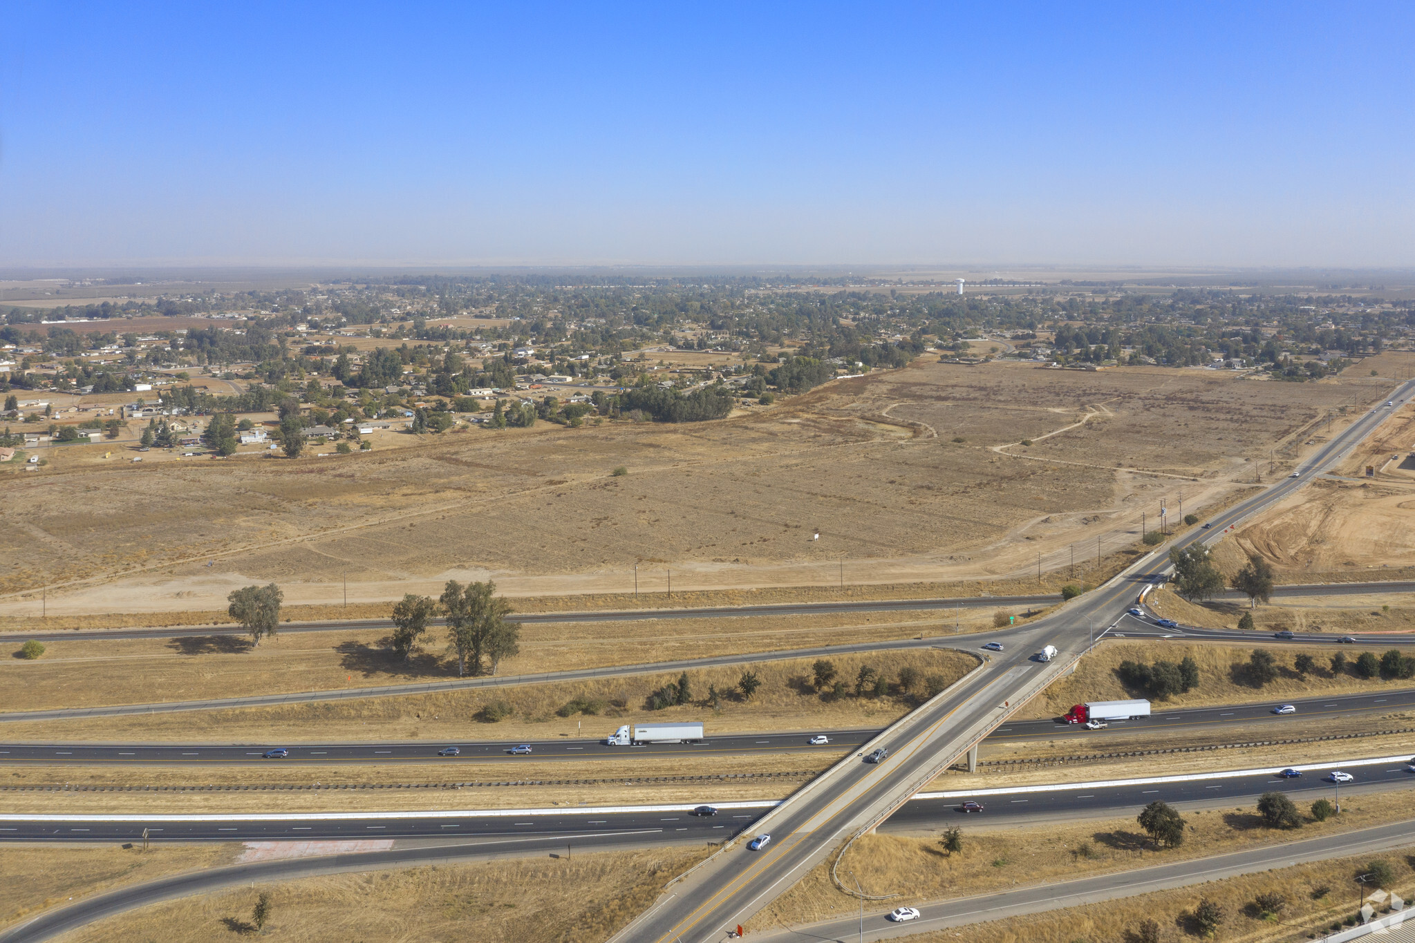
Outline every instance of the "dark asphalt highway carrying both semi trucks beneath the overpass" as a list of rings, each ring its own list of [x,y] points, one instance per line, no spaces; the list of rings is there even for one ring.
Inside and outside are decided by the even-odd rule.
[[[1302,737],[1306,720],[1384,714],[1415,707],[1415,689],[1382,690],[1365,694],[1307,697],[1281,701],[1298,708],[1296,714],[1274,714],[1279,701],[1255,704],[1191,707],[1165,710],[1157,703],[1155,714],[1142,721],[1112,721],[1101,731],[1088,731],[1077,724],[1056,720],[1013,720],[988,735],[988,741],[1075,739],[1095,742],[1104,749],[1108,738],[1146,731],[1180,731],[1220,728],[1232,724],[1262,724],[1274,727],[1268,737]],[[613,721],[604,722],[610,732]],[[1281,732],[1279,732],[1281,731]],[[811,745],[814,734],[831,738],[828,745]],[[505,762],[535,766],[543,762],[611,761],[625,762],[638,756],[743,756],[751,754],[838,754],[869,742],[880,730],[821,730],[771,734],[730,734],[708,737],[702,744],[651,744],[645,746],[607,746],[603,739],[497,739],[497,741],[388,741],[376,744],[0,744],[3,765],[74,765],[74,766],[372,766],[381,763],[446,765],[454,775],[458,763]],[[529,744],[531,755],[511,755],[518,744]],[[284,746],[284,759],[266,759],[267,749]],[[460,756],[437,756],[443,746],[457,746]]]

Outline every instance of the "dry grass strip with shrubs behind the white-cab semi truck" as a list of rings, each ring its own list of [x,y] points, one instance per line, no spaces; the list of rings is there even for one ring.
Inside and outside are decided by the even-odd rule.
[[[906,664],[924,677],[941,676],[951,684],[976,660],[957,650],[879,652],[842,655],[831,659],[841,677],[853,683],[862,664],[870,664],[896,681]],[[443,691],[402,697],[371,697],[351,701],[316,701],[243,710],[185,711],[134,717],[79,717],[68,721],[16,721],[4,725],[10,741],[208,741],[265,742],[272,738],[310,742],[340,739],[543,739],[607,735],[620,724],[674,720],[702,720],[713,732],[790,731],[808,728],[884,727],[911,710],[923,689],[904,696],[848,696],[828,700],[808,684],[814,659],[764,662],[751,666],[761,687],[746,700],[737,691],[743,667],[689,672],[689,704],[651,711],[645,701],[654,690],[676,683],[679,673],[606,677],[594,681],[524,684],[509,689]],[[708,701],[709,689],[720,693],[719,707]],[[897,684],[896,684],[897,689]],[[559,710],[579,700],[593,714]],[[509,714],[485,722],[484,708],[505,704]]]

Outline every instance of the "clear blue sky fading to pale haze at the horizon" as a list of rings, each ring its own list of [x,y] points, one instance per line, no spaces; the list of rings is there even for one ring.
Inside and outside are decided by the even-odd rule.
[[[1415,264],[1411,4],[6,4],[0,266]]]

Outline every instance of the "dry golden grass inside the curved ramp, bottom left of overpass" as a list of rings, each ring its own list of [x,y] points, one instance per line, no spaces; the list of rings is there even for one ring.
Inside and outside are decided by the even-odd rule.
[[[563,855],[563,850],[560,851]],[[272,919],[260,939],[579,943],[608,939],[675,874],[706,855],[655,848],[518,858],[304,878],[158,903],[57,937],[64,943],[239,940],[260,891]]]

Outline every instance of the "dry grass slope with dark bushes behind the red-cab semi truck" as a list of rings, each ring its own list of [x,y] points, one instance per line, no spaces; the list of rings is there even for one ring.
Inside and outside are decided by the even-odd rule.
[[[1278,679],[1258,686],[1249,680],[1248,657],[1254,648],[1274,653],[1278,662]],[[1146,697],[1143,690],[1128,689],[1116,676],[1115,669],[1122,660],[1155,662],[1165,659],[1180,662],[1191,657],[1199,663],[1199,687],[1187,694],[1176,694],[1167,701],[1156,701],[1169,708],[1203,707],[1207,704],[1252,704],[1262,701],[1281,703],[1295,697],[1316,697],[1320,694],[1354,694],[1360,691],[1381,691],[1408,689],[1407,680],[1361,679],[1347,669],[1341,674],[1332,673],[1330,659],[1337,646],[1293,646],[1290,643],[1251,646],[1211,645],[1199,642],[1104,642],[1095,652],[1082,657],[1074,674],[1068,674],[1040,697],[1023,707],[1017,717],[1057,717],[1081,701],[1116,701],[1129,697]],[[1356,660],[1364,646],[1341,646],[1347,659]],[[1316,659],[1317,667],[1305,679],[1292,670],[1293,659],[1306,652]],[[1381,649],[1374,649],[1380,656]],[[1159,710],[1159,707],[1156,707]]]

